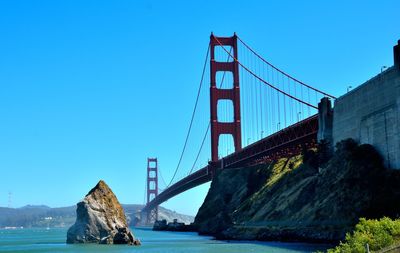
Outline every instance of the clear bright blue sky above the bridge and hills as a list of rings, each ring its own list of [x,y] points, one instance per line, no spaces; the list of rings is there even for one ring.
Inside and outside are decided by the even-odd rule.
[[[175,169],[211,31],[340,95],[392,65],[399,11],[398,0],[1,1],[0,206],[9,191],[14,207],[73,205],[99,179],[143,203],[146,158],[166,181]],[[164,206],[195,214],[208,186]]]

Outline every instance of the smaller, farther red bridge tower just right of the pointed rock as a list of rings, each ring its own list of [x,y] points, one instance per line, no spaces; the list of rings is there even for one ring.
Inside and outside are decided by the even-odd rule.
[[[158,195],[158,161],[157,158],[147,158],[147,204]],[[158,220],[158,206],[146,213],[146,224]]]

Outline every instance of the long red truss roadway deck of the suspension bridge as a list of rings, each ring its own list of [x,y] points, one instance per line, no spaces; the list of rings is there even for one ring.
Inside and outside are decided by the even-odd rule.
[[[210,162],[204,168],[188,175],[171,185],[142,210],[152,210],[168,199],[208,181],[211,181],[218,168],[239,168],[248,164],[272,161],[281,157],[300,154],[303,146],[312,147],[317,143],[318,115],[313,115],[296,124],[269,135],[240,151],[232,153],[216,162]]]

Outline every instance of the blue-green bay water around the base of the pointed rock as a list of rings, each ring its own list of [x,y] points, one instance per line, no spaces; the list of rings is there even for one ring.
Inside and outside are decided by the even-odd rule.
[[[127,245],[70,245],[65,243],[67,229],[17,229],[0,230],[0,252],[313,252],[323,250],[321,245],[299,243],[255,243],[225,242],[196,233],[156,232],[134,228],[133,233],[142,241],[142,246]]]

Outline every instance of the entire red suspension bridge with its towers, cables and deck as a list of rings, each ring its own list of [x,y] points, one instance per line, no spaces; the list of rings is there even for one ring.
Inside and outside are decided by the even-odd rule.
[[[209,90],[202,93],[208,64],[210,86]],[[219,75],[221,73],[222,78]],[[226,78],[225,74],[231,78]],[[174,182],[201,94],[209,95],[208,127],[189,173]],[[304,148],[315,147],[320,139],[330,139],[331,99],[335,97],[299,81],[265,60],[236,34],[232,37],[211,34],[178,166],[170,183],[165,184],[166,188],[158,195],[155,193],[154,198],[148,197],[142,212],[157,210],[168,199],[211,181],[218,169],[245,168],[248,165],[298,155]],[[221,110],[219,103],[223,100],[232,106]],[[228,117],[221,116],[221,113]],[[222,136],[232,138],[229,145],[233,146],[230,147],[233,152],[221,152],[227,150],[226,142],[221,141]],[[207,140],[210,141],[209,144]],[[202,148],[207,145],[210,147],[211,157],[203,157],[202,162],[208,162],[196,170],[195,165]],[[148,196],[149,189],[148,187]]]

